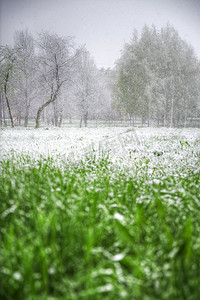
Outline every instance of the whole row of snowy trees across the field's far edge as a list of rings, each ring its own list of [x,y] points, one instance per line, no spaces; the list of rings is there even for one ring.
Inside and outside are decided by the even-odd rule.
[[[10,119],[35,126],[41,119],[128,117],[132,125],[186,126],[200,118],[200,62],[169,24],[144,26],[124,45],[113,70],[98,69],[85,46],[71,36],[16,31],[14,46],[0,46],[0,125]]]

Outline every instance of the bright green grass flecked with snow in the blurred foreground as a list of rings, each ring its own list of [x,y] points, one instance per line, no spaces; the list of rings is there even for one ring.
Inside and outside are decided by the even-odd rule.
[[[2,161],[0,299],[199,299],[199,182]]]

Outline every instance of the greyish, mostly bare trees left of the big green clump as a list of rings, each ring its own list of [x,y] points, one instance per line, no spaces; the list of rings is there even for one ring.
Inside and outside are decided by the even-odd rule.
[[[109,70],[99,70],[85,46],[77,47],[72,37],[41,32],[37,40],[16,31],[14,46],[0,48],[0,122],[11,127],[34,117],[40,126],[61,126],[63,116],[109,118],[112,114],[108,87]]]

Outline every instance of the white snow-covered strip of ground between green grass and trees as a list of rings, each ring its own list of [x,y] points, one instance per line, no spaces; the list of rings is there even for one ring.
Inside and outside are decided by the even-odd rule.
[[[4,129],[0,159],[18,154],[74,162],[108,153],[122,168],[141,165],[149,174],[199,171],[200,129],[171,128],[50,128]]]

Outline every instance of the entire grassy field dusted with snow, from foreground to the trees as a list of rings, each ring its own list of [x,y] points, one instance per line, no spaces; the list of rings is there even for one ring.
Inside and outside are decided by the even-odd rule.
[[[199,299],[200,130],[3,130],[0,299]]]

